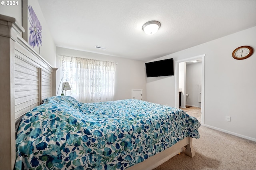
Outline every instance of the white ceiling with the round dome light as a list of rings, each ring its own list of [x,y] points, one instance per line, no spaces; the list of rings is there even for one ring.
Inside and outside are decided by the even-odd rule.
[[[256,0],[38,2],[56,46],[141,61],[256,26]],[[142,30],[150,20],[161,23],[154,35]]]

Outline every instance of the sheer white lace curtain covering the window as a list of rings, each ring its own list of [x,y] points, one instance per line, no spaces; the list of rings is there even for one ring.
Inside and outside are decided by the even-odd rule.
[[[83,103],[113,100],[114,62],[68,56],[60,56],[60,60],[62,82],[67,80],[71,86],[69,95]]]

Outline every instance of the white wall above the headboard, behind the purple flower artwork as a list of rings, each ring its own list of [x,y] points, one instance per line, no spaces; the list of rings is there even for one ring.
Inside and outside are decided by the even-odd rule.
[[[3,2],[7,2],[7,1],[3,1]],[[42,14],[41,8],[40,8],[37,0],[30,0],[29,4],[34,9],[36,16],[38,17],[38,20],[40,21],[40,23],[42,25],[42,47],[40,50],[41,51],[40,55],[42,55],[42,57],[44,59],[46,59],[46,61],[48,61],[48,63],[50,63],[50,65],[55,67],[55,65],[56,65],[56,57],[55,57],[56,56],[56,52],[55,52],[56,47],[55,47],[55,43],[52,38],[52,35],[49,31],[48,25],[44,19],[43,14]],[[0,5],[0,14],[16,18],[17,22],[20,25],[22,25],[22,0],[18,0],[17,6],[16,5],[15,6]],[[25,31],[27,31],[27,30],[25,30]],[[22,36],[22,35],[20,35],[20,36]]]

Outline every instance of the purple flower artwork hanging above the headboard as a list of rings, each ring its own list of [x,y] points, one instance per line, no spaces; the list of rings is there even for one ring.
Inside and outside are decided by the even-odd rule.
[[[28,20],[30,22],[30,36],[28,43],[34,48],[37,46],[39,48],[40,53],[40,46],[42,46],[42,26],[36,16],[36,13],[34,12],[32,6],[28,6]]]

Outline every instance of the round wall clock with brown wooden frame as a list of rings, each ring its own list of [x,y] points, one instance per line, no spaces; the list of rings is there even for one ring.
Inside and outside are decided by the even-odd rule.
[[[246,59],[250,57],[253,53],[253,49],[250,46],[241,46],[236,48],[233,53],[232,57],[234,59]]]

